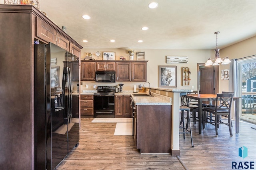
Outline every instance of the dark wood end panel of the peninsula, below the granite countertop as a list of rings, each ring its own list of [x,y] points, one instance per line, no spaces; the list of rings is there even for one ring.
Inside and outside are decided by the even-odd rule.
[[[140,153],[171,153],[171,106],[137,105],[134,139]]]

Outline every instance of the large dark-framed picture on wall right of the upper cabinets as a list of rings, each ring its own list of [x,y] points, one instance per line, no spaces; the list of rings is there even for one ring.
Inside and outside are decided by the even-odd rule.
[[[177,66],[159,66],[159,87],[177,87]]]

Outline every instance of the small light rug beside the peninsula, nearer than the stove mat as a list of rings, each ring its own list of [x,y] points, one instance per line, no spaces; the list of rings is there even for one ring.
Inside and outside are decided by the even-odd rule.
[[[132,123],[116,123],[115,136],[132,136]]]

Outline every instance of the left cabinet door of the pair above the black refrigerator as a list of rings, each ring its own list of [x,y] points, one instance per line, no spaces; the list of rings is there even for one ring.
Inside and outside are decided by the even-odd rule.
[[[39,18],[36,18],[36,36],[54,44],[57,41],[57,31]]]

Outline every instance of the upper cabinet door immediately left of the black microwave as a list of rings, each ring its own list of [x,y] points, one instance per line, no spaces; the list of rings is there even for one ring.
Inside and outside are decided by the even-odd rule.
[[[95,65],[96,65],[96,62],[81,63],[81,81],[95,80]]]

